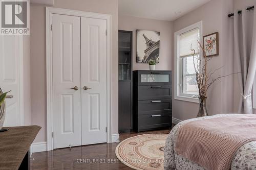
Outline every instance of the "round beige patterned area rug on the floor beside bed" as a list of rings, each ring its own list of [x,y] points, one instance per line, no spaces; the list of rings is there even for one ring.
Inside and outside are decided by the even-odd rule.
[[[168,134],[144,134],[127,138],[116,147],[116,156],[122,163],[134,169],[163,169],[167,136]]]

